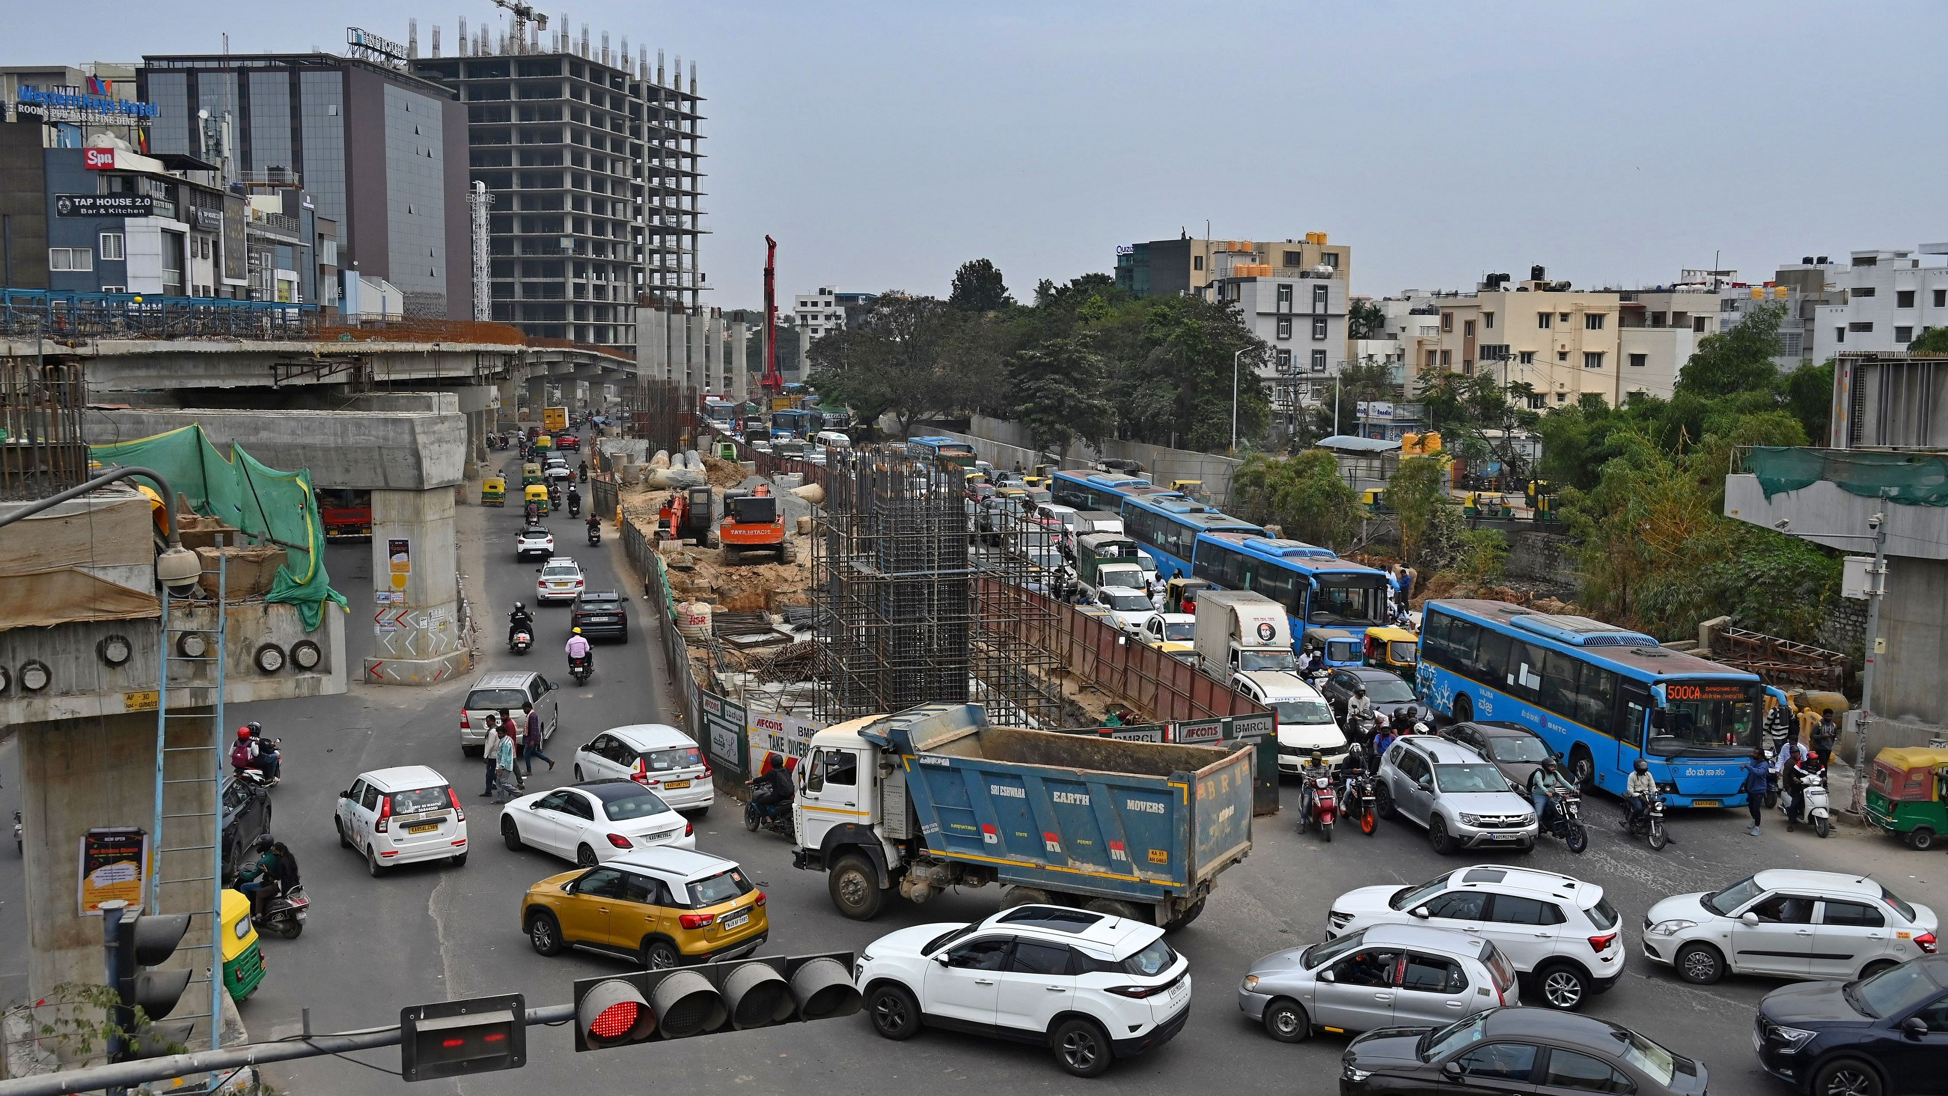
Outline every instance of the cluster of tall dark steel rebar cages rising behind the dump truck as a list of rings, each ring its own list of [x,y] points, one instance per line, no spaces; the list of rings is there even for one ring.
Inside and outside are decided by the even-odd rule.
[[[822,724],[923,703],[988,705],[993,722],[1054,726],[1050,602],[1029,596],[1052,535],[1023,508],[964,500],[962,469],[900,450],[832,454],[812,518]]]

